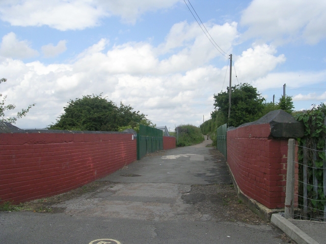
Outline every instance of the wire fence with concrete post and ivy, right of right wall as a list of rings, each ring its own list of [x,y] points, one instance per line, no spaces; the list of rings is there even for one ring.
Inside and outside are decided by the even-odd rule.
[[[310,141],[313,142],[313,141]],[[326,222],[326,149],[304,140],[295,160],[294,139],[289,139],[285,197],[285,218]],[[326,144],[325,144],[326,145]],[[294,170],[297,167],[298,177]],[[298,186],[294,191],[294,186]],[[297,209],[294,202],[297,199]]]

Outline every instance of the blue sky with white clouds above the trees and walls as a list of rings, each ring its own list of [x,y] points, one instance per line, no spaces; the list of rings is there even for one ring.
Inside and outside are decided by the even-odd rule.
[[[232,85],[278,102],[286,84],[310,109],[326,102],[324,12],[320,0],[0,0],[6,115],[35,103],[16,126],[44,128],[101,94],[171,131],[199,126],[229,86],[229,54]]]

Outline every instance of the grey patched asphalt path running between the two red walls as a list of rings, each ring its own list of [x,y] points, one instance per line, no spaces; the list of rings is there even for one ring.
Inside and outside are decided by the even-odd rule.
[[[284,243],[270,224],[218,221],[185,200],[194,185],[231,184],[209,143],[146,156],[60,213],[0,212],[0,243]]]

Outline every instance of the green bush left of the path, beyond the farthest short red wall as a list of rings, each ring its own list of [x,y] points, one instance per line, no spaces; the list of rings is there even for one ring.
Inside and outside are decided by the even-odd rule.
[[[179,125],[175,128],[177,132],[177,146],[191,146],[204,140],[200,128],[193,125]]]

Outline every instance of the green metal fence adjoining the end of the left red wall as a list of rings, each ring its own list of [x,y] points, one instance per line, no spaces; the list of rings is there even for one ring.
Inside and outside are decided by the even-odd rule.
[[[163,150],[163,132],[153,127],[140,125],[137,134],[137,160],[158,150]]]

